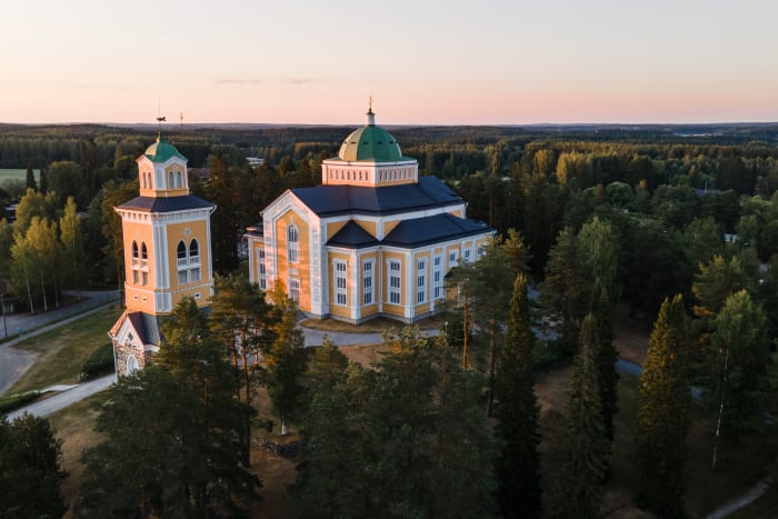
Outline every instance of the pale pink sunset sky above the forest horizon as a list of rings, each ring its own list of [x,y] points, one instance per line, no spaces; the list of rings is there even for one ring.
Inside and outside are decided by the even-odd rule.
[[[778,2],[27,0],[0,122],[778,121]]]

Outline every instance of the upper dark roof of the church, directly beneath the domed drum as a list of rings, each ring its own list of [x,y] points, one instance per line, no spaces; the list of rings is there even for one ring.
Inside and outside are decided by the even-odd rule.
[[[317,186],[291,192],[319,217],[391,214],[462,202],[461,197],[436,177],[421,177],[418,183],[400,186]]]

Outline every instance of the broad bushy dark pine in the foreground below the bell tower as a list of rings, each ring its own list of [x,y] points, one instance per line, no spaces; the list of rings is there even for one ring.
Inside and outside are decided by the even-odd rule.
[[[192,317],[191,302],[177,317]],[[154,365],[121,377],[100,408],[104,440],[82,456],[83,517],[237,517],[256,495],[241,467],[252,409],[235,397],[235,368],[209,336],[166,333]]]

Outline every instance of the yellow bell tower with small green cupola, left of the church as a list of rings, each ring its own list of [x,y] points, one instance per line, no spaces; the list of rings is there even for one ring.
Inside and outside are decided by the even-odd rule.
[[[109,332],[119,375],[149,363],[161,341],[159,318],[181,298],[205,307],[213,295],[216,207],[189,193],[187,159],[161,133],[137,163],[140,196],[114,208],[123,232],[127,307]]]

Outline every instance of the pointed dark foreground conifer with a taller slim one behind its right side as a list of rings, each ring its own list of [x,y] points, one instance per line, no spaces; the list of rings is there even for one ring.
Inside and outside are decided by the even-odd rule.
[[[609,443],[602,420],[597,379],[597,321],[589,313],[581,323],[580,352],[568,386],[561,458],[552,517],[596,518],[602,499],[601,483],[608,466]]]

